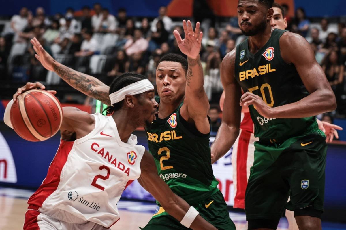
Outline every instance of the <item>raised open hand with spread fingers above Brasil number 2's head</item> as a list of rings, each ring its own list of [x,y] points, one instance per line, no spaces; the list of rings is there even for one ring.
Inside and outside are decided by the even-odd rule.
[[[173,31],[174,37],[178,43],[180,51],[189,58],[196,59],[201,51],[201,41],[203,32],[199,31],[199,22],[196,23],[195,31],[193,31],[191,21],[183,20],[183,28],[185,38],[182,39],[177,30]]]

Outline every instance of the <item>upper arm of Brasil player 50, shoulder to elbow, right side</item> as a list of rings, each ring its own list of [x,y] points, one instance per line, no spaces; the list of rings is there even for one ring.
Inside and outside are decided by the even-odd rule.
[[[280,38],[281,56],[294,64],[309,93],[330,88],[326,74],[318,64],[309,42],[298,34],[286,32]]]

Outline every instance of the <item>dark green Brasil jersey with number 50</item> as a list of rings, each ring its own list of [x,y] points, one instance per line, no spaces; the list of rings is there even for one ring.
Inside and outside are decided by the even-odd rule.
[[[309,93],[293,64],[281,57],[279,39],[287,30],[275,29],[265,46],[256,54],[248,49],[248,38],[236,48],[235,78],[243,90],[252,92],[270,107],[297,102]],[[316,117],[268,119],[249,106],[255,124],[255,136],[285,140],[317,126]]]

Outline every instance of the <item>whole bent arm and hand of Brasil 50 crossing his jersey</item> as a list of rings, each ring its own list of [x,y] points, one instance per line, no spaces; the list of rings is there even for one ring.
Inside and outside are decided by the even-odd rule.
[[[304,55],[301,50],[304,50]],[[286,63],[294,64],[310,93],[309,96],[294,103],[269,107],[261,97],[246,92],[240,99],[240,105],[253,104],[266,118],[302,118],[335,110],[336,100],[333,90],[306,39],[298,34],[286,32],[280,38],[280,51]]]

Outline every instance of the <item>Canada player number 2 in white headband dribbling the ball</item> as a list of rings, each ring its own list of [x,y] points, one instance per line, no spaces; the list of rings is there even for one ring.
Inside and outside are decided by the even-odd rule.
[[[44,89],[39,82],[27,83],[13,100],[36,87]],[[125,73],[109,91],[110,116],[63,108],[60,146],[42,185],[28,200],[24,230],[109,229],[119,220],[122,192],[135,179],[187,228],[216,230],[171,191],[157,175],[152,155],[131,134],[155,119],[154,86],[140,74]],[[12,103],[4,116],[10,127]]]

